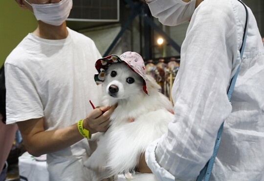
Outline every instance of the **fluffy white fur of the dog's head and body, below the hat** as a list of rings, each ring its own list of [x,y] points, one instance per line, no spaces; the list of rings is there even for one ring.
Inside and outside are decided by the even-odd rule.
[[[110,76],[112,71],[117,72],[115,77]],[[128,77],[134,79],[132,84],[127,82]],[[173,110],[173,106],[168,98],[159,92],[160,86],[154,78],[147,75],[146,82],[149,95],[143,91],[142,78],[127,65],[115,63],[110,65],[106,72],[103,105],[118,106],[110,117],[109,129],[105,133],[92,136],[90,141],[97,140],[97,148],[84,163],[87,167],[99,171],[99,180],[128,173],[138,164],[147,145],[168,131],[168,123],[174,118],[169,112]],[[110,85],[119,89],[112,96]]]

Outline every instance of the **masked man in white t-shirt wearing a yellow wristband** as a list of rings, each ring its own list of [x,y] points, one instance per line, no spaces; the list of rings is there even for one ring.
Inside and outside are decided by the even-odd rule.
[[[93,74],[101,55],[90,38],[66,27],[72,0],[16,1],[38,27],[5,61],[6,123],[18,124],[31,155],[47,154],[50,181],[95,180],[82,163],[89,151],[83,138],[106,131],[114,109],[89,104],[98,105]]]

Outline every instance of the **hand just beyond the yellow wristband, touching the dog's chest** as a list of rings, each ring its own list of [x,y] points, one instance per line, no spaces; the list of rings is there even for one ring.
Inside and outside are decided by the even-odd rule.
[[[84,119],[83,127],[89,130],[90,134],[107,131],[110,123],[110,115],[116,106],[96,107]]]

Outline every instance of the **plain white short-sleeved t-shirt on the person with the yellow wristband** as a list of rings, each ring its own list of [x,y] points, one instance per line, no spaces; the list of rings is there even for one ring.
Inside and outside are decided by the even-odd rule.
[[[100,86],[94,82],[94,42],[67,28],[66,39],[49,40],[28,34],[5,61],[7,124],[44,117],[44,129],[77,123],[98,105]],[[47,154],[51,181],[87,181],[83,166],[86,139]]]

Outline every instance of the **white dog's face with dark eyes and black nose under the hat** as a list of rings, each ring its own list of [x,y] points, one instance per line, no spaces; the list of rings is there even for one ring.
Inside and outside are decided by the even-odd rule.
[[[106,71],[103,91],[110,102],[129,100],[145,93],[143,79],[123,63],[115,63]]]

